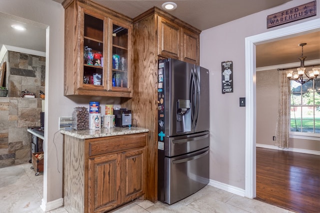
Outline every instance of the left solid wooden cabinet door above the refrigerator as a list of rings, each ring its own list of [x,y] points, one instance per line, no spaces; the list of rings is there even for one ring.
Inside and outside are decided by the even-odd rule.
[[[158,16],[158,55],[178,59],[180,49],[180,27]]]

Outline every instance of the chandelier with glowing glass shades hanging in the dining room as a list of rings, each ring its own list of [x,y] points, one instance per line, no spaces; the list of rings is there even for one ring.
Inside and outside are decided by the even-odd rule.
[[[305,70],[304,59],[306,58],[306,56],[303,56],[303,46],[304,45],[306,45],[306,43],[299,44],[299,46],[301,46],[301,50],[302,50],[301,56],[298,57],[298,59],[300,60],[300,67],[296,68],[297,69],[296,72],[293,72],[293,70],[287,70],[287,72],[286,72],[287,73],[286,77],[289,80],[294,80],[300,84],[304,84],[304,83],[308,82],[309,80],[315,79],[320,73],[319,67],[312,68],[312,70],[310,70],[310,71]]]

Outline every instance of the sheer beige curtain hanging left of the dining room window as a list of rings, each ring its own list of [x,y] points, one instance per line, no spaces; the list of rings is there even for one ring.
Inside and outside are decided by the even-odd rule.
[[[285,70],[279,71],[279,107],[275,126],[274,145],[282,148],[289,147],[290,122],[290,82]]]

